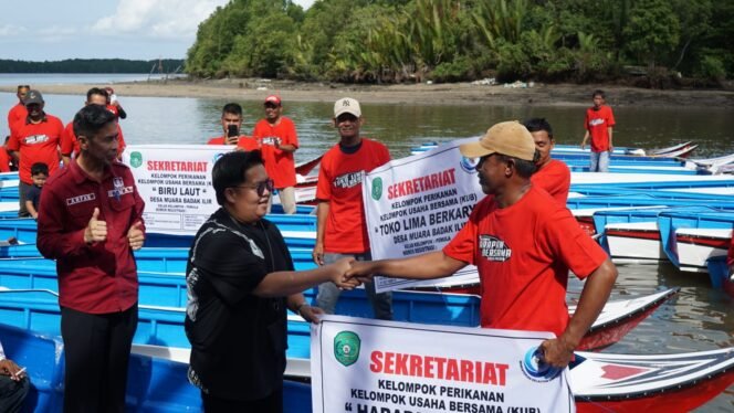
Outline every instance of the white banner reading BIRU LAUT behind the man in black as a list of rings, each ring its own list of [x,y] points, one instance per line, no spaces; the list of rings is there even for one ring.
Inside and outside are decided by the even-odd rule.
[[[196,234],[219,209],[211,169],[231,146],[130,145],[123,162],[130,167],[145,201],[146,230]]]

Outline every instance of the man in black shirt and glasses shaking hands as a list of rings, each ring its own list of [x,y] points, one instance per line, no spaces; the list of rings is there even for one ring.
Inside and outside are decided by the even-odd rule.
[[[342,288],[353,260],[295,272],[277,227],[263,219],[273,182],[259,150],[222,156],[212,170],[214,212],[197,233],[186,269],[189,381],[206,412],[281,412],[286,307],[308,321],[306,288],[332,280]]]

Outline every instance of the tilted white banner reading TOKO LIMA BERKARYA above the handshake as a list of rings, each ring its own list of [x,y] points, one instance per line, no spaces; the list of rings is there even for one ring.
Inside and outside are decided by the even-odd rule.
[[[395,159],[365,174],[361,193],[373,260],[402,258],[441,251],[484,198],[474,165],[459,152],[460,139],[426,152]],[[377,292],[426,285],[478,282],[466,266],[451,279],[375,277]]]

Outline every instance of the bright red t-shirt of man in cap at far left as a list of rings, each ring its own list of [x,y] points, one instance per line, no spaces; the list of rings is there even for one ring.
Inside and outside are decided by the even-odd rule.
[[[18,166],[20,180],[33,184],[31,179],[31,166],[43,162],[49,166],[49,176],[59,169],[59,142],[64,126],[57,117],[44,115],[39,124],[30,121],[18,121],[10,129],[8,150],[20,152],[20,165]]]

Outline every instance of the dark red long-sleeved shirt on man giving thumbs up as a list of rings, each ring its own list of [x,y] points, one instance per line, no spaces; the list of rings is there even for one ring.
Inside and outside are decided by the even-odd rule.
[[[137,267],[127,232],[143,222],[144,206],[123,163],[107,169],[102,182],[75,161],[49,179],[39,205],[36,244],[43,256],[56,260],[60,306],[106,314],[137,303]],[[87,245],[84,230],[95,208],[107,223],[107,240]]]

